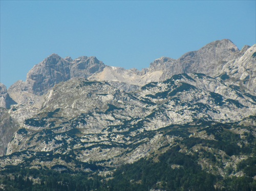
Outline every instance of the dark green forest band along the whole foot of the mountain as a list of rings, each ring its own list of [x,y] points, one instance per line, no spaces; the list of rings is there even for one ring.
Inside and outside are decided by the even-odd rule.
[[[53,170],[22,169],[1,177],[4,190],[256,190],[255,176],[248,166],[255,166],[255,157],[238,165],[239,170],[247,170],[244,177],[223,179],[201,170],[197,156],[185,155],[176,146],[158,159],[141,159],[133,164],[118,168],[111,178],[97,173],[58,173]],[[174,165],[176,164],[176,165]],[[253,167],[252,167],[253,169]],[[33,183],[29,177],[39,178]]]

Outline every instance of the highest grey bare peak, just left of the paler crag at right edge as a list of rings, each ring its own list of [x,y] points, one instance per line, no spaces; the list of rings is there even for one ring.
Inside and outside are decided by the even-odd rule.
[[[222,66],[237,58],[239,53],[238,47],[230,40],[218,40],[198,51],[186,53],[178,60],[165,57],[157,59],[151,64],[150,71],[163,70],[162,79],[182,73],[203,73],[215,77],[219,75]]]

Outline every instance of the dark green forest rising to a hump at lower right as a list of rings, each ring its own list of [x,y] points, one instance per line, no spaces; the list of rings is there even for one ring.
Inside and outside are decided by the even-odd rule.
[[[206,173],[197,164],[197,156],[185,155],[176,146],[159,157],[159,162],[139,160],[118,169],[108,182],[111,190],[256,190],[252,174],[255,157],[241,162],[252,167],[244,177],[225,178]],[[173,165],[176,164],[176,165]],[[239,170],[241,170],[239,169]]]

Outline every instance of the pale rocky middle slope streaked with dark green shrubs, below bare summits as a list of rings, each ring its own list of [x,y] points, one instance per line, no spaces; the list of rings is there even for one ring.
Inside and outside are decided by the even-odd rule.
[[[73,79],[46,94],[40,111],[15,133],[7,155],[72,152],[79,162],[133,163],[178,141],[179,136],[163,136],[163,128],[196,121],[238,122],[254,114],[253,99],[203,74],[174,75],[130,93],[107,82]],[[2,167],[9,160],[5,158]]]

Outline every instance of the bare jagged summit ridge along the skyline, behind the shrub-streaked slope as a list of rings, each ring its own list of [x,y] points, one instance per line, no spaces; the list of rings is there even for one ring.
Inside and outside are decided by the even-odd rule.
[[[42,95],[47,93],[55,84],[72,78],[106,80],[136,86],[143,86],[154,81],[163,81],[173,75],[182,73],[203,73],[215,78],[226,72],[227,65],[242,66],[243,63],[238,64],[235,62],[242,61],[239,58],[244,55],[248,56],[246,54],[248,49],[249,46],[244,46],[242,51],[239,51],[231,40],[217,40],[206,44],[198,51],[188,52],[179,59],[168,57],[156,59],[150,64],[149,68],[144,68],[142,71],[107,67],[95,56],[81,56],[73,60],[71,57],[63,59],[57,54],[52,54],[29,71],[26,82],[22,84],[17,82],[8,91],[13,92],[15,87],[15,91],[19,89],[20,91],[25,90],[33,94]],[[247,66],[249,65],[247,64]],[[250,70],[251,68],[247,68],[247,66],[245,66],[245,69]],[[234,68],[233,66],[230,67]],[[230,71],[230,73],[232,72]],[[253,84],[251,77],[254,78],[253,75],[250,75],[249,79],[247,79],[248,83],[241,84],[241,88],[246,86],[247,89],[251,89],[251,85],[248,85]]]

